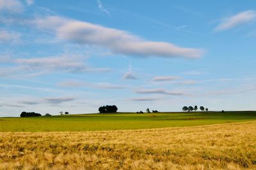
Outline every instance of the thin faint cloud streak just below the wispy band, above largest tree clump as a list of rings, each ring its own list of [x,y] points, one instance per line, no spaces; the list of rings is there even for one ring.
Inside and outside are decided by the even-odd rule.
[[[106,82],[63,81],[58,83],[61,87],[92,87],[97,89],[124,89],[123,85]]]

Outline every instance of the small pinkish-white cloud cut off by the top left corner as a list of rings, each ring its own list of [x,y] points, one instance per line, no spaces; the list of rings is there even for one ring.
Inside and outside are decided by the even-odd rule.
[[[0,0],[0,11],[22,13],[24,9],[19,0]]]

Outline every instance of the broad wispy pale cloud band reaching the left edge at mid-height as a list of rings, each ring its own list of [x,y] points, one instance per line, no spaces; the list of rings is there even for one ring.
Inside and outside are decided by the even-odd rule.
[[[2,62],[9,62],[8,67],[0,68],[0,76],[9,76],[13,74],[31,74],[39,76],[52,72],[68,72],[68,73],[83,73],[83,72],[106,72],[111,71],[109,68],[94,68],[84,62],[83,57],[77,55],[60,55],[53,57],[36,57],[29,59],[10,59]],[[0,60],[1,63],[1,60]],[[14,65],[14,66],[13,66]]]

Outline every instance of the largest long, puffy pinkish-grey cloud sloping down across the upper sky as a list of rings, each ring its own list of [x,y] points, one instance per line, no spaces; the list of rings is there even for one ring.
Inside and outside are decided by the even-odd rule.
[[[198,58],[204,53],[201,49],[184,48],[167,42],[146,41],[129,32],[68,18],[36,18],[34,24],[39,29],[54,31],[61,40],[103,46],[113,53],[124,55]]]

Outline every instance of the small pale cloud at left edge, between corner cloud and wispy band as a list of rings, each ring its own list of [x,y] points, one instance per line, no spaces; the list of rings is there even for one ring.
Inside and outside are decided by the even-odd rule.
[[[20,34],[16,32],[0,30],[0,43],[18,43],[20,41]]]

